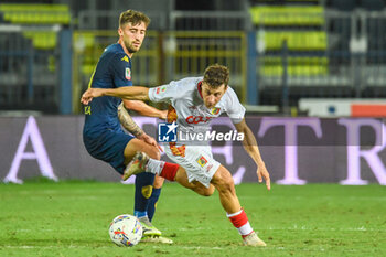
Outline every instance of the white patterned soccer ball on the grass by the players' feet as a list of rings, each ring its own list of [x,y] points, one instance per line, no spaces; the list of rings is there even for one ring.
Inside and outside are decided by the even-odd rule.
[[[108,233],[118,246],[135,246],[142,238],[142,225],[136,216],[122,214],[112,219]]]

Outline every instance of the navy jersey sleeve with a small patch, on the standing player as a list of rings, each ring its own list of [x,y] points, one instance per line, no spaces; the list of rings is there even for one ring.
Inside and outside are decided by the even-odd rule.
[[[132,86],[130,60],[126,54],[116,54],[109,68],[116,87]]]

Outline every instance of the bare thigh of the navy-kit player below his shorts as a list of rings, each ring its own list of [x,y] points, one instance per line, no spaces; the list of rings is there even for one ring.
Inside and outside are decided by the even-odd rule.
[[[125,163],[129,163],[132,158],[135,157],[136,152],[142,151],[147,153],[150,158],[160,160],[160,151],[157,147],[151,146],[142,140],[139,140],[137,138],[131,139],[125,148]]]

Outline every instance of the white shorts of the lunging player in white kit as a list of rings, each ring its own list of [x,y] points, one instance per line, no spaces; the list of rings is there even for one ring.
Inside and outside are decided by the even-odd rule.
[[[185,169],[189,182],[199,181],[210,188],[211,180],[221,165],[213,159],[210,146],[186,146],[185,157],[174,156],[169,146],[164,149],[173,162]]]

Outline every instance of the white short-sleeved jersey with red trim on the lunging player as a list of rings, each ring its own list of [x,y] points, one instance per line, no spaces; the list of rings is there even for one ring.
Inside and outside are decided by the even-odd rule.
[[[210,121],[223,113],[226,113],[234,124],[242,122],[245,108],[234,89],[228,86],[217,105],[208,109],[201,96],[202,79],[203,77],[187,77],[150,88],[149,98],[156,103],[170,103],[176,111],[180,128],[208,127]]]

